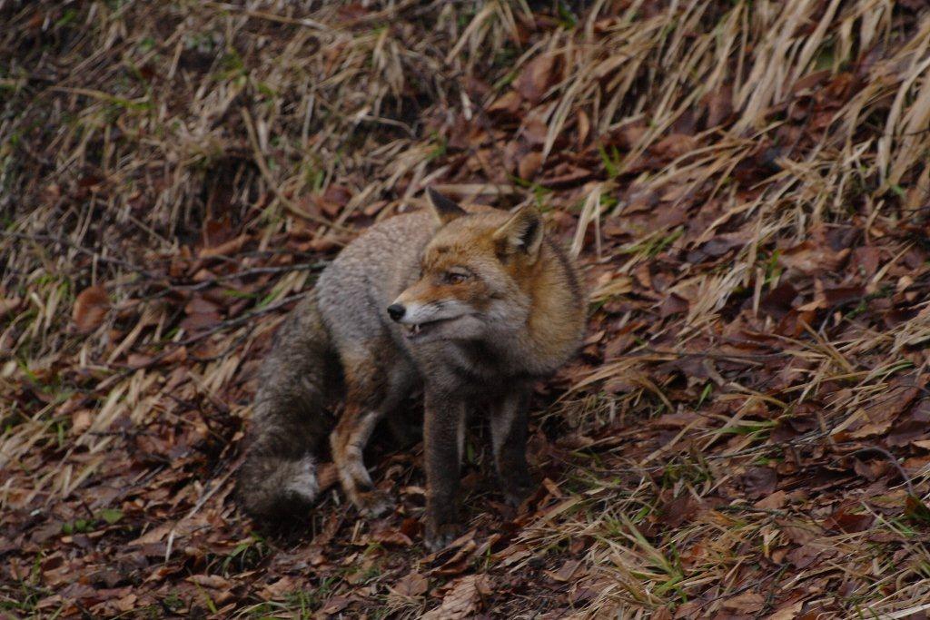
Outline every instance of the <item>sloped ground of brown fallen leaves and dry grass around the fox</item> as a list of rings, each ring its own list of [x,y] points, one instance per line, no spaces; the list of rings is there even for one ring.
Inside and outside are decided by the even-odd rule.
[[[0,3],[0,609],[923,617],[920,0]],[[591,289],[519,512],[290,534],[230,496],[326,261],[432,184],[533,201]],[[415,405],[411,404],[413,408]]]

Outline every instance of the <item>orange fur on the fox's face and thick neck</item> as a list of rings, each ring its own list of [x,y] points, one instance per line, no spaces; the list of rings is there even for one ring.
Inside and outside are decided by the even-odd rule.
[[[557,365],[577,346],[584,294],[577,270],[541,226],[526,208],[477,207],[441,220],[420,259],[419,280],[396,299],[413,309],[406,323],[471,315],[467,334],[450,325],[446,336],[509,342],[514,354],[532,350],[540,367]]]

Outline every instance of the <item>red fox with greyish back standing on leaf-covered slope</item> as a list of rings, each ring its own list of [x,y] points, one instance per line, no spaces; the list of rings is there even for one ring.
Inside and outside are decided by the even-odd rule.
[[[401,419],[420,390],[426,547],[446,547],[461,531],[459,467],[472,412],[488,413],[505,500],[519,506],[532,492],[530,396],[581,344],[581,274],[535,206],[466,208],[426,193],[428,208],[385,218],[347,244],[275,334],[238,476],[253,519],[307,513],[320,495],[327,439],[352,505],[367,517],[390,509],[363,451],[379,421]]]

